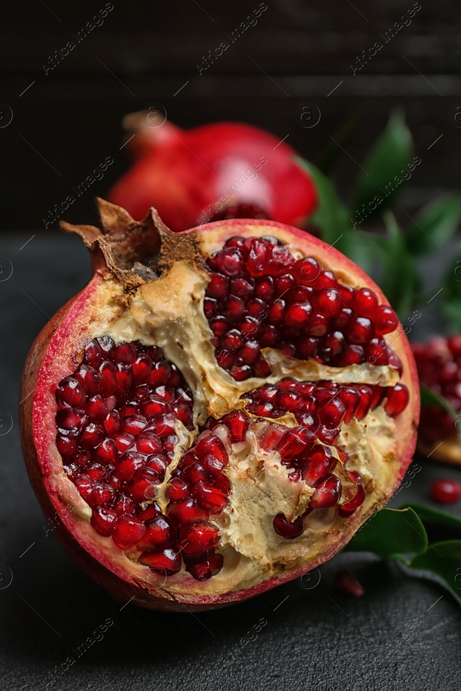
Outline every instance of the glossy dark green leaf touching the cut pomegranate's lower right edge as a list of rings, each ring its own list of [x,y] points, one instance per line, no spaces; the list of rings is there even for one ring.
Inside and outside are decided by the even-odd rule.
[[[347,549],[375,552],[383,559],[402,554],[422,554],[427,548],[426,530],[413,509],[381,509],[355,533]]]

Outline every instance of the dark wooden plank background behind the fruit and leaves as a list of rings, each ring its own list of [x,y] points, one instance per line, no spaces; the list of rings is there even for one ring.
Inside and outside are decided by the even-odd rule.
[[[73,34],[105,4],[15,0],[1,10],[0,102],[13,112],[0,129],[3,229],[44,229],[48,209],[111,155],[104,178],[66,216],[95,222],[93,196],[104,196],[129,164],[120,151],[122,115],[149,101],[163,104],[183,127],[229,119],[280,138],[289,134],[287,141],[313,162],[328,135],[353,115],[357,124],[345,149],[360,163],[389,113],[403,108],[422,158],[404,191],[405,207],[460,187],[461,129],[449,117],[450,107],[461,105],[457,3],[422,0],[410,26],[352,75],[356,56],[384,43],[381,35],[413,7],[411,0],[267,0],[256,26],[199,76],[203,55],[227,40],[257,0],[114,0],[102,26],[45,75],[49,57],[67,41],[76,43]],[[306,102],[321,110],[313,129],[294,120],[295,108]],[[357,171],[341,155],[334,175],[344,198]]]

